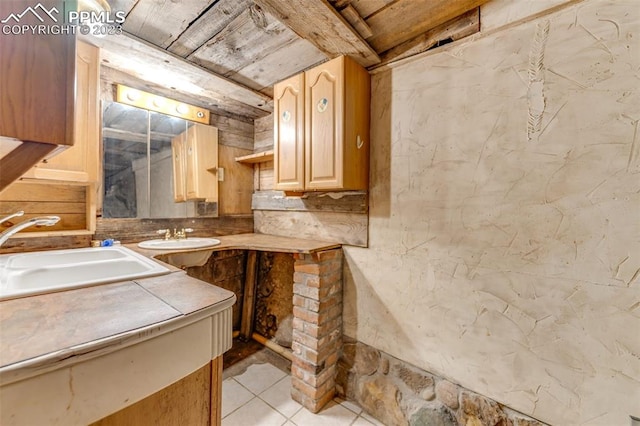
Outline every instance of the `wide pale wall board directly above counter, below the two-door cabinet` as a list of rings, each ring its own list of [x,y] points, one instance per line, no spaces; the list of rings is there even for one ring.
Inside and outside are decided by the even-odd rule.
[[[368,216],[360,213],[254,210],[255,231],[367,247]]]

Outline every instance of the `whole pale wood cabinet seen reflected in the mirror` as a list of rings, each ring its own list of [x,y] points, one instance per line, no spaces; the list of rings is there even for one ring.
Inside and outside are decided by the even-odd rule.
[[[218,129],[194,125],[171,141],[174,200],[218,201]]]

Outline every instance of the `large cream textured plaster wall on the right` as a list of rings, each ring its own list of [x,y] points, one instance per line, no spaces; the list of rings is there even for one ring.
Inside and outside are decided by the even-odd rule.
[[[640,416],[640,11],[592,0],[375,74],[345,334],[552,424]]]

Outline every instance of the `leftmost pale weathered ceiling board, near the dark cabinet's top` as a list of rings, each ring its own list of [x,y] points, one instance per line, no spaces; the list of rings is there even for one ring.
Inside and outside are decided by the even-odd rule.
[[[165,49],[204,12],[209,3],[210,0],[139,1],[127,15],[122,28]]]

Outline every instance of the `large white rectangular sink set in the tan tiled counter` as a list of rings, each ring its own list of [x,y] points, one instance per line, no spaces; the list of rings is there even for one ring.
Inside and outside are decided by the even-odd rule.
[[[0,256],[0,300],[162,275],[169,269],[125,247]]]

